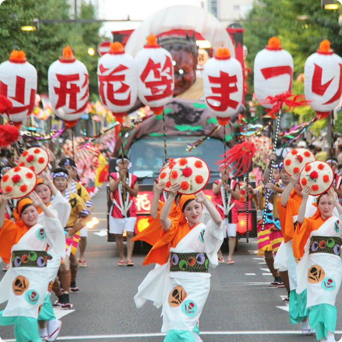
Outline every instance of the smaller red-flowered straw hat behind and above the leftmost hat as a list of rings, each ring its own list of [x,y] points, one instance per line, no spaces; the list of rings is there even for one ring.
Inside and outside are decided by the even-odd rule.
[[[43,172],[49,164],[49,154],[41,147],[31,147],[24,151],[19,159],[19,166],[26,166],[35,174]]]

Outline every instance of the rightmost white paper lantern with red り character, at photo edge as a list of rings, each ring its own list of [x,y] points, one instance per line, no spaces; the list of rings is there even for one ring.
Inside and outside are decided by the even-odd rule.
[[[317,115],[325,118],[337,107],[342,94],[342,58],[330,49],[327,39],[308,57],[304,74],[305,98]]]

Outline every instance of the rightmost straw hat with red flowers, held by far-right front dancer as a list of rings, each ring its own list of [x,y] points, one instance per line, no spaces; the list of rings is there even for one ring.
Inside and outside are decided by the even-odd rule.
[[[299,184],[311,188],[310,195],[318,196],[328,190],[334,181],[334,171],[324,161],[308,163],[300,173]]]

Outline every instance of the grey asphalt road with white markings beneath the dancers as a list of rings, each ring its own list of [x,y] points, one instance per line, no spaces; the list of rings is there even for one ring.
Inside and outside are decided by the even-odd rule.
[[[105,220],[105,189],[94,198],[94,215]],[[62,331],[58,341],[161,342],[161,309],[146,303],[137,309],[133,297],[153,265],[142,266],[146,251],[134,255],[134,267],[118,267],[115,243],[100,236],[106,221],[89,230],[86,268],[79,268],[77,285],[81,292],[70,294],[74,310],[56,310]],[[100,235],[98,235],[100,234]],[[226,259],[226,254],[224,255]],[[262,257],[256,256],[256,239],[240,240],[235,264],[220,264],[211,270],[211,290],[200,318],[204,342],[314,342],[301,335],[300,325],[291,325],[282,302],[284,288],[270,288],[273,280]],[[1,268],[3,264],[0,265]],[[0,274],[2,278],[3,274]],[[54,294],[51,301],[55,300]],[[342,300],[337,298],[338,321],[335,339],[342,333]],[[0,305],[0,310],[5,307]],[[13,326],[0,326],[4,341],[15,341]]]

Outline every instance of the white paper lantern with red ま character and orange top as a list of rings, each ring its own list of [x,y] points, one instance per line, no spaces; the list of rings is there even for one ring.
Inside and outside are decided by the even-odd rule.
[[[227,124],[229,118],[239,111],[243,94],[242,67],[230,56],[228,49],[218,49],[215,57],[205,63],[203,90],[205,103],[219,124]]]

